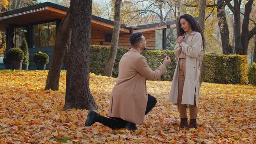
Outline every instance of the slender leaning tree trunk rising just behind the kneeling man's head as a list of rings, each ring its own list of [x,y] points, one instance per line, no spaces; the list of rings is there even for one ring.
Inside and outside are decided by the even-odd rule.
[[[105,76],[112,76],[113,67],[115,64],[116,52],[118,47],[118,39],[119,39],[119,29],[121,26],[121,1],[115,0],[115,15],[114,15],[114,29],[111,39],[110,51],[108,54],[108,61],[105,65]]]

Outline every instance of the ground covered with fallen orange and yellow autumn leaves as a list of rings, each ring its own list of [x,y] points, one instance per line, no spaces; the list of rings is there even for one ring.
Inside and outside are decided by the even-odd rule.
[[[44,91],[48,71],[0,71],[0,144],[24,143],[256,143],[256,87],[203,83],[199,128],[179,130],[176,105],[167,101],[171,82],[147,81],[158,103],[138,131],[118,131],[95,123],[84,127],[87,110],[62,111],[66,72],[60,90]],[[90,75],[90,89],[107,115],[116,79]],[[172,125],[172,123],[177,123]]]

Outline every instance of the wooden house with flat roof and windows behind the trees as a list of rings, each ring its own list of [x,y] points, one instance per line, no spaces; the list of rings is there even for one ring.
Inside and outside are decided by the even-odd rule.
[[[66,16],[68,7],[46,2],[0,13],[0,31],[7,33],[7,47],[20,47],[26,38],[30,52],[29,69],[35,69],[33,56],[36,52],[46,52],[49,59],[53,55],[56,29]],[[110,46],[114,22],[92,15],[91,45]],[[174,21],[126,26],[121,24],[119,47],[130,48],[129,37],[132,33],[143,32],[148,49],[166,49],[166,29]],[[161,41],[156,42],[156,37]],[[49,69],[50,62],[46,65]]]

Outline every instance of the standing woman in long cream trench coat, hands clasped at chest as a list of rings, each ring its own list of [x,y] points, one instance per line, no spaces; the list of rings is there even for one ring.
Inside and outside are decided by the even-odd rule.
[[[177,105],[180,128],[197,128],[197,107],[200,90],[200,69],[203,61],[204,36],[193,16],[180,17],[174,55],[178,59],[168,101]],[[187,122],[187,108],[190,123]]]

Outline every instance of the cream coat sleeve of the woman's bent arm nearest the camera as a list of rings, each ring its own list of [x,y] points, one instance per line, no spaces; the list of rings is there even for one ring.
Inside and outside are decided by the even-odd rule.
[[[203,46],[203,39],[200,33],[196,33],[195,34],[195,39],[194,42],[192,42],[192,46],[188,45],[185,42],[182,42],[180,44],[180,46],[182,47],[182,51],[187,55],[190,56],[192,58],[196,58],[199,53],[202,50],[202,46]]]

